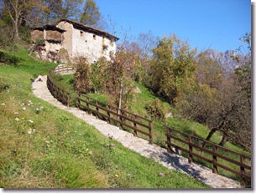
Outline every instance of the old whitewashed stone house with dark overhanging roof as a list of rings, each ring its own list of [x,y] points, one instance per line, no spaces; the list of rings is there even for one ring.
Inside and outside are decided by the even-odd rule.
[[[110,59],[116,52],[118,38],[97,28],[69,19],[61,19],[55,25],[34,28],[31,33],[34,53],[40,58],[61,63],[76,63],[85,57],[89,63],[100,57]]]

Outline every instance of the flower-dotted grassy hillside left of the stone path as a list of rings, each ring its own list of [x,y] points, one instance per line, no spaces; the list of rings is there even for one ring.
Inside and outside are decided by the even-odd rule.
[[[0,187],[208,187],[129,151],[39,100],[30,78],[46,74],[56,64],[34,61],[23,49],[9,55],[18,62],[0,65]]]

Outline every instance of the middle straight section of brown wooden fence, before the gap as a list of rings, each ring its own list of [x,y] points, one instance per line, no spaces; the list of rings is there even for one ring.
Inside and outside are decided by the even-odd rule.
[[[102,116],[108,123],[112,120],[118,123],[121,128],[126,126],[128,129],[133,130],[134,136],[137,136],[138,132],[149,136],[149,144],[153,144],[152,120],[148,120],[126,110],[119,110],[116,107],[94,100],[86,94],[78,94],[77,106],[81,110],[93,112],[97,117]]]

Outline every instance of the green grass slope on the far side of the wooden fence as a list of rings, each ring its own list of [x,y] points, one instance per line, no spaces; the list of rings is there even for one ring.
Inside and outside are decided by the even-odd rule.
[[[74,89],[72,89],[72,83],[73,83],[73,75],[63,75],[59,76],[58,79],[56,79],[58,83],[60,84],[60,87],[63,87],[65,89],[69,89],[71,92],[74,93]],[[150,118],[150,115],[147,113],[147,110],[145,107],[149,105],[150,102],[156,99],[156,96],[149,92],[149,89],[144,87],[143,84],[135,83],[135,86],[138,87],[141,90],[141,93],[136,93],[134,95],[133,101],[129,103],[128,108],[133,113],[136,113],[137,115],[142,115],[144,117]],[[73,91],[72,91],[73,90]],[[105,98],[102,94],[90,94],[92,98],[100,100],[102,102],[107,102],[107,98]],[[206,139],[206,136],[209,133],[209,129],[205,125],[201,125],[197,122],[191,121],[191,120],[185,120],[180,117],[178,113],[176,113],[175,108],[171,107],[170,104],[166,103],[164,100],[159,100],[161,106],[165,110],[165,113],[172,113],[172,115],[165,120],[159,120],[158,118],[154,119],[153,122],[153,138],[154,143],[157,145],[161,145],[163,147],[166,146],[165,140],[166,140],[166,128],[165,126],[168,125],[170,127],[175,128],[176,130],[184,131],[185,133],[196,135],[198,137],[201,137],[203,139]],[[133,130],[125,129],[129,132],[133,132]],[[145,135],[138,134],[138,136],[148,139]],[[222,140],[222,135],[220,133],[215,133],[212,135],[211,141],[215,143],[219,143]],[[181,146],[184,146],[180,144],[179,142],[176,142]],[[231,142],[227,142],[225,144],[225,147],[231,149],[232,151],[238,151],[239,153],[249,153],[247,151],[244,151],[243,148],[239,147],[238,145],[233,145]],[[201,152],[198,152],[198,154],[202,154]],[[230,158],[233,158],[234,160],[239,161],[240,158],[238,156],[233,156],[231,153],[222,153],[225,156],[228,156]],[[182,153],[181,155],[187,156],[186,153]],[[208,158],[212,158],[212,156],[205,155]],[[208,166],[209,168],[212,168],[212,164],[208,163],[206,161],[202,161],[201,159],[198,159],[194,157],[193,159],[196,162],[199,162],[203,164],[204,166]],[[234,165],[230,162],[223,161],[221,159],[218,159],[218,161],[222,161],[222,163],[226,166],[232,167],[232,169],[235,169],[237,171],[240,170],[239,166]],[[232,172],[225,171],[222,168],[218,169],[218,172],[224,176],[232,177],[239,180],[239,176],[235,176]]]

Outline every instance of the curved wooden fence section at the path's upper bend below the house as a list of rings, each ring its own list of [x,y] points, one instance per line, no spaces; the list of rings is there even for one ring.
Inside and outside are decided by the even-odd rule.
[[[53,81],[53,74],[69,74],[76,70],[75,67],[71,66],[63,66],[56,69],[50,69],[47,74],[47,88],[50,90],[50,93],[55,97],[55,99],[59,100],[62,104],[70,106],[71,105],[71,94],[65,89],[61,89],[58,85]]]

